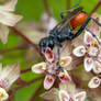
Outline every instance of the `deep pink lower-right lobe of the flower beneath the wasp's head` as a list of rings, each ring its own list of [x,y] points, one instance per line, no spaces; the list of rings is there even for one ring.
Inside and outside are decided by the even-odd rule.
[[[70,82],[71,81],[71,78],[66,70],[64,70],[64,72],[60,71],[58,77],[59,77],[61,82]]]

